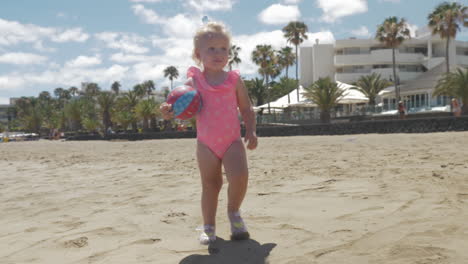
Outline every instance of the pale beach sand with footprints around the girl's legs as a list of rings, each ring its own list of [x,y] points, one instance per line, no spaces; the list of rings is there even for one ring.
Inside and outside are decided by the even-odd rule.
[[[467,263],[468,132],[260,138],[198,244],[195,139],[0,144],[0,263]]]

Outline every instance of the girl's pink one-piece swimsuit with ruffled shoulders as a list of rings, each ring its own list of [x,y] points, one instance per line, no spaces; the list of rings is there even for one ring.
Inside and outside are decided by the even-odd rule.
[[[197,115],[197,139],[222,159],[241,136],[236,95],[239,72],[228,72],[226,80],[216,86],[208,84],[196,67],[188,69],[187,77],[193,79],[202,97],[202,108]]]

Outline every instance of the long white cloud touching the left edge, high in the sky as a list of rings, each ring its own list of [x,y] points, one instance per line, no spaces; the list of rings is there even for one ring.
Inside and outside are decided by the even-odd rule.
[[[81,28],[40,27],[0,18],[0,45],[12,46],[20,43],[39,45],[38,43],[47,39],[60,43],[84,42],[88,37],[89,35],[83,32]]]

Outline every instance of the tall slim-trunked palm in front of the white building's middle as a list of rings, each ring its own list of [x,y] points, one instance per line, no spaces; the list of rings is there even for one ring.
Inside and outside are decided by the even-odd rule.
[[[410,31],[404,18],[398,20],[397,17],[389,17],[377,27],[375,38],[386,47],[392,49],[393,79],[395,83],[395,96],[397,103],[400,101],[399,78],[396,74],[395,49],[410,38]]]

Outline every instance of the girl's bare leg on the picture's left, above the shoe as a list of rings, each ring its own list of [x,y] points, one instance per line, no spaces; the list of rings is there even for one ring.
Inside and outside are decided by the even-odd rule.
[[[197,160],[202,181],[201,207],[203,223],[216,224],[218,195],[223,185],[221,160],[203,143],[197,143]]]

